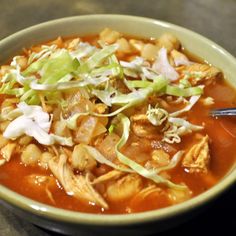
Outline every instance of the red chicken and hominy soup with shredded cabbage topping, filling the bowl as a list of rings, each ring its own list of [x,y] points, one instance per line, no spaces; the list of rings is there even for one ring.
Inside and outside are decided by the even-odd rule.
[[[24,49],[1,66],[0,183],[37,201],[117,214],[187,201],[235,162],[222,72],[174,35],[104,29]]]

